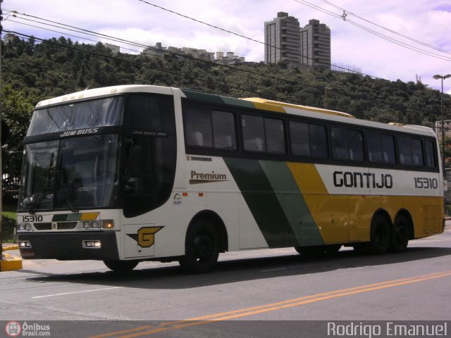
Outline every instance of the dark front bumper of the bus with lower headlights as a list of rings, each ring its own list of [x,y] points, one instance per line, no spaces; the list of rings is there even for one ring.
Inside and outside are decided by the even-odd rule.
[[[19,233],[18,240],[23,259],[119,259],[116,233],[113,231],[27,232]]]

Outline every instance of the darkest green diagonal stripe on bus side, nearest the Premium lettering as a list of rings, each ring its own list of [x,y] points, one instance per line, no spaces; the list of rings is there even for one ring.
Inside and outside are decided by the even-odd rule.
[[[295,233],[258,160],[224,158],[269,247],[297,246]]]

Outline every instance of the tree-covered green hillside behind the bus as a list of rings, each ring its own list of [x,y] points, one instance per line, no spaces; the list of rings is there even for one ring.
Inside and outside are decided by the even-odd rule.
[[[260,96],[293,104],[326,106],[357,118],[381,122],[432,127],[440,119],[440,92],[421,82],[299,70],[284,63],[223,66],[175,54],[163,58],[113,55],[101,43],[80,44],[64,37],[39,43],[33,38],[16,37],[1,43],[2,97],[4,103],[9,102],[4,105],[3,113],[11,127],[7,151],[21,149],[19,140],[25,134],[31,107],[38,101],[116,84],[156,84],[233,97]],[[444,96],[448,119],[451,97]]]

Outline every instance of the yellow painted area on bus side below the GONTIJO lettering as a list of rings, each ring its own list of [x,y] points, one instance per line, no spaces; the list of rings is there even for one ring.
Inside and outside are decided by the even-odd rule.
[[[390,215],[405,209],[414,222],[414,237],[442,232],[440,196],[329,194],[314,164],[288,163],[325,244],[368,242],[371,218],[378,209]]]

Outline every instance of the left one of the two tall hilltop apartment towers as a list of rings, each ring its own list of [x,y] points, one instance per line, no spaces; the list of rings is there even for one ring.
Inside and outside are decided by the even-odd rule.
[[[285,12],[265,23],[265,63],[299,65],[299,27],[299,20]]]

